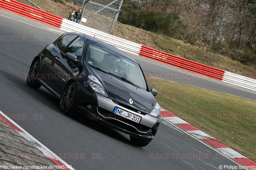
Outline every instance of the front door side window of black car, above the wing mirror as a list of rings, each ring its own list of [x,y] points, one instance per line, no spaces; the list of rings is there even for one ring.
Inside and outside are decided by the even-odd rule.
[[[78,37],[75,41],[73,41],[68,48],[64,51],[64,53],[73,53],[76,55],[77,59],[82,56],[84,49],[84,40],[81,37]]]

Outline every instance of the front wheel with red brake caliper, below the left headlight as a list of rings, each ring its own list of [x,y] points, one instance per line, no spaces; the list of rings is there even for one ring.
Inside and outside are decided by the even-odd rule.
[[[68,84],[61,96],[60,96],[60,111],[65,115],[71,116],[75,115],[75,110],[72,108],[72,105],[75,100],[75,93],[76,93],[76,83],[72,82]]]

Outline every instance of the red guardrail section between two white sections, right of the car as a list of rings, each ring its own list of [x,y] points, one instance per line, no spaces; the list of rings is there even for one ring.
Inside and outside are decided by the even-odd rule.
[[[204,64],[196,63],[185,58],[181,58],[175,55],[171,55],[153,48],[142,46],[140,54],[143,57],[150,58],[152,60],[169,64],[174,67],[178,67],[183,70],[204,75],[206,77],[222,80],[224,70],[216,69]]]

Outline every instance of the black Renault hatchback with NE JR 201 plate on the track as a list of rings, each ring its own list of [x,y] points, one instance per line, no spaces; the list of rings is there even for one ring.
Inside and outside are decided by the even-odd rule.
[[[146,146],[160,124],[160,106],[139,63],[123,51],[81,33],[64,33],[34,58],[27,85],[43,85],[66,115],[86,114]],[[89,115],[89,116],[88,116]]]

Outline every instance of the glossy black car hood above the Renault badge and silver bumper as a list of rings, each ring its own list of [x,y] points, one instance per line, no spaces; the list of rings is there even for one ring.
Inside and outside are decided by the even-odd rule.
[[[93,72],[105,86],[110,99],[146,114],[149,114],[155,107],[156,99],[151,92],[135,87],[99,70],[93,69]],[[133,100],[132,104],[129,103],[129,99]]]

